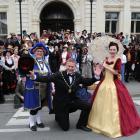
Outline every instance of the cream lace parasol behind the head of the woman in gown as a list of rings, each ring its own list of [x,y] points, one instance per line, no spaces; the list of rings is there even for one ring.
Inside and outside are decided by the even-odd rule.
[[[115,38],[110,36],[101,36],[96,37],[90,44],[89,44],[89,54],[92,55],[93,61],[95,63],[102,63],[105,57],[109,55],[109,43],[115,42],[119,46],[118,57],[121,57],[124,48],[121,42]]]

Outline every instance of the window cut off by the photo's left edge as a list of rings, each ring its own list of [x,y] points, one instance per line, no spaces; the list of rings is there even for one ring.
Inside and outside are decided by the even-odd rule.
[[[7,36],[7,13],[0,12],[0,38],[4,39]]]

